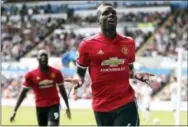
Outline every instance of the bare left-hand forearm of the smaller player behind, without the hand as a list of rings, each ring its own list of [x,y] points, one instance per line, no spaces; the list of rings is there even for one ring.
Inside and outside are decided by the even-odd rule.
[[[20,104],[22,103],[22,101],[24,100],[24,98],[26,97],[26,94],[29,90],[26,88],[23,88],[18,96],[18,100],[16,102],[16,106],[14,108],[14,112],[16,112],[20,106]]]

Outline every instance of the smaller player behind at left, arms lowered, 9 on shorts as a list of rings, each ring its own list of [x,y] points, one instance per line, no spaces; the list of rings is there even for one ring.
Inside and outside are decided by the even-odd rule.
[[[58,90],[67,106],[67,117],[71,118],[67,94],[64,88],[64,79],[60,70],[48,65],[48,53],[40,50],[38,54],[39,67],[25,75],[23,89],[20,92],[10,121],[14,121],[16,112],[26,97],[29,88],[34,91],[36,113],[39,126],[58,126],[60,118],[60,98]]]

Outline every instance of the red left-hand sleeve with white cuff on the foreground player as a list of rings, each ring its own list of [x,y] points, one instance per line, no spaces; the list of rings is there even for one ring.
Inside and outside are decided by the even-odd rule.
[[[76,60],[76,64],[81,68],[87,68],[87,66],[89,65],[89,53],[86,43],[86,41],[82,41],[78,46],[78,58]]]

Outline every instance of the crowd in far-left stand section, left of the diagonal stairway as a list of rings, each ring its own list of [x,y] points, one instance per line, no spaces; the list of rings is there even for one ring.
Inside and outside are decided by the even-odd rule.
[[[19,60],[61,22],[61,19],[51,18],[42,20],[24,19],[24,21],[21,21],[21,19],[2,20],[2,60]]]

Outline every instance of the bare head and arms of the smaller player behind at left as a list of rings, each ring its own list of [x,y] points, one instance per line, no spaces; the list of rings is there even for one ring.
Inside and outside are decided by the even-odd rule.
[[[40,70],[42,71],[42,73],[47,73],[49,71],[49,66],[48,66],[48,55],[44,52],[44,53],[41,53],[38,57],[38,62],[39,62],[39,67],[40,67]],[[60,94],[61,96],[63,97],[64,101],[65,101],[65,104],[67,106],[67,109],[66,109],[66,114],[67,114],[67,117],[70,119],[71,118],[71,112],[70,112],[70,108],[69,108],[69,103],[68,103],[68,97],[67,97],[67,94],[66,94],[66,91],[65,91],[65,88],[64,88],[64,85],[63,85],[63,82],[61,83],[61,85],[58,85],[59,87],[59,91],[60,91]],[[28,93],[29,89],[28,88],[25,88],[23,87],[19,96],[18,96],[18,100],[16,102],[16,106],[14,108],[14,112],[12,114],[12,116],[10,117],[10,122],[13,122],[14,121],[14,118],[16,116],[16,112],[20,106],[20,104],[23,102],[23,100],[25,99],[27,93]],[[55,125],[55,123],[53,122],[49,122],[48,123],[49,126],[57,126]]]

